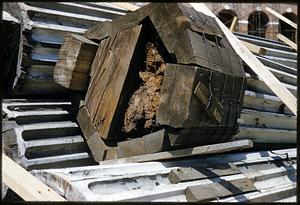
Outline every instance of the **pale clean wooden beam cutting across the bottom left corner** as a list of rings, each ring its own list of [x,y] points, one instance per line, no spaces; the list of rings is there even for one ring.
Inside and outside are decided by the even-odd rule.
[[[3,153],[2,177],[3,183],[25,201],[66,201]]]

